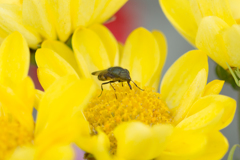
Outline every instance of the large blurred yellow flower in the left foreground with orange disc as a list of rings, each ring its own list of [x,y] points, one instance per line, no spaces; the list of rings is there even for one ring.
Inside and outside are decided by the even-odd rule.
[[[29,64],[26,40],[12,33],[0,47],[0,160],[74,159],[70,144],[80,134],[78,114],[94,91],[93,82],[65,76],[42,96],[27,76]]]

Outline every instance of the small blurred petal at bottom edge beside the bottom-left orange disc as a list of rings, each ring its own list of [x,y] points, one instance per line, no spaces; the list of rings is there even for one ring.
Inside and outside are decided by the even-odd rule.
[[[34,160],[35,153],[33,147],[18,147],[15,149],[9,160]]]

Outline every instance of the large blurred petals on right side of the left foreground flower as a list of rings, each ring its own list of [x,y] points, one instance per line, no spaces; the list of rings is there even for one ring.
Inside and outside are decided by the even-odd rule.
[[[33,142],[16,149],[10,160],[74,159],[71,144],[81,133],[82,109],[93,91],[91,80],[71,75],[54,82],[40,100]]]

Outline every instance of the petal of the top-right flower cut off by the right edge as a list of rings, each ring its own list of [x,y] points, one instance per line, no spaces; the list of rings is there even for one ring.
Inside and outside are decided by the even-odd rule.
[[[223,37],[224,47],[226,48],[226,53],[229,56],[229,65],[231,67],[240,67],[240,26],[233,25],[222,30],[220,34]]]

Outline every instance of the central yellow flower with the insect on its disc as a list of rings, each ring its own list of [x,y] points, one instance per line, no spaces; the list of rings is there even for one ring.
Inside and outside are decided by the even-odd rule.
[[[179,58],[165,74],[159,94],[154,90],[166,58],[161,32],[138,28],[119,50],[112,34],[94,25],[79,28],[72,44],[74,52],[49,40],[37,50],[38,77],[44,89],[62,76],[82,79],[116,65],[127,68],[144,89],[132,85],[130,90],[126,83],[115,83],[115,90],[105,88],[100,97],[100,91],[96,92],[83,110],[76,141],[91,153],[87,158],[212,160],[227,152],[227,139],[219,130],[232,121],[236,102],[218,95],[223,81],[206,85],[208,61],[202,51],[190,51]]]

